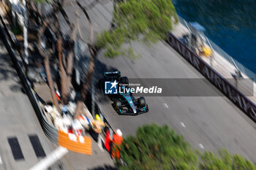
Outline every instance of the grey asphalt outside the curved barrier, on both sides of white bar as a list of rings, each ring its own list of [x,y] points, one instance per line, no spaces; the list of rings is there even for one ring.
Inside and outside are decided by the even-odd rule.
[[[30,169],[57,147],[45,136],[22,89],[10,56],[0,40],[0,170]],[[39,142],[31,142],[29,136],[37,136]],[[10,144],[8,141],[13,138],[18,142]],[[102,152],[92,141],[92,155],[70,151],[49,167],[49,170],[53,169],[114,169],[114,165],[108,152]]]

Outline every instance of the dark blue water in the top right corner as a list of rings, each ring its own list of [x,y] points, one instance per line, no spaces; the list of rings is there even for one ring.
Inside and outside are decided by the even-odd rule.
[[[256,73],[256,0],[173,0],[178,15]]]

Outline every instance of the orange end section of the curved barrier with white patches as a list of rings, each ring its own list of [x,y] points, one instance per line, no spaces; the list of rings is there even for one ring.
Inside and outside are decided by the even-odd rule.
[[[91,138],[89,137],[66,134],[63,131],[59,131],[58,144],[61,147],[66,147],[67,150],[91,155]]]

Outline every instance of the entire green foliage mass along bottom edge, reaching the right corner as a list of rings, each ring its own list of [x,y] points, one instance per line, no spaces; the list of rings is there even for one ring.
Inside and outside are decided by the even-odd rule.
[[[119,169],[201,169],[201,170],[254,170],[255,165],[240,155],[227,150],[200,153],[193,150],[184,138],[167,125],[144,125],[136,136],[127,136],[121,145]]]

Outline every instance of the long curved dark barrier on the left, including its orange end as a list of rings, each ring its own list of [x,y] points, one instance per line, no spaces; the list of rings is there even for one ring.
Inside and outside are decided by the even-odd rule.
[[[42,112],[41,107],[39,107],[39,102],[37,99],[34,90],[31,88],[31,84],[29,80],[26,78],[24,70],[20,63],[18,62],[18,58],[15,56],[15,51],[12,49],[9,40],[4,32],[4,28],[2,28],[0,24],[0,35],[1,40],[6,47],[10,59],[13,63],[13,66],[20,78],[20,82],[23,85],[24,90],[26,91],[27,96],[29,96],[29,101],[34,108],[35,113],[37,114],[37,118],[39,123],[44,131],[45,135],[50,139],[51,142],[55,144],[59,144],[63,147],[67,147],[68,150],[72,150],[74,152],[80,152],[83,154],[91,155],[91,138],[86,136],[76,136],[75,134],[65,134],[64,132],[59,131],[53,125],[51,125],[45,115]]]

